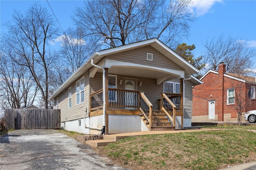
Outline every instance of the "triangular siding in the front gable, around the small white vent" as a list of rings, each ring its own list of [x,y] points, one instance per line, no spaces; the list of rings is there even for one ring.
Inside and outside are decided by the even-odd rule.
[[[153,61],[146,60],[147,53],[153,53]],[[151,46],[132,49],[130,51],[125,51],[114,55],[108,55],[106,56],[106,59],[143,64],[153,67],[183,70],[180,66],[156,51],[156,49],[152,48]]]

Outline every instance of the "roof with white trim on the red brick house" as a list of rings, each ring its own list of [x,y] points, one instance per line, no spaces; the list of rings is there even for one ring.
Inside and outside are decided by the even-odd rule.
[[[204,77],[206,77],[206,75],[208,75],[209,73],[219,74],[219,72],[216,70],[209,70],[200,78],[200,80],[202,80]],[[228,77],[230,79],[234,79],[234,80],[241,81],[244,83],[256,84],[256,77],[238,75],[238,74],[233,74],[233,73],[224,73],[224,77]]]

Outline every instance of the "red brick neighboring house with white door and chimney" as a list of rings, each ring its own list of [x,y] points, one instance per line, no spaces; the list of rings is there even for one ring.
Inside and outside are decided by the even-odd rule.
[[[218,71],[209,70],[200,79],[204,83],[193,87],[192,121],[237,121],[238,99],[245,100],[243,113],[256,110],[256,78],[225,71],[220,63]]]

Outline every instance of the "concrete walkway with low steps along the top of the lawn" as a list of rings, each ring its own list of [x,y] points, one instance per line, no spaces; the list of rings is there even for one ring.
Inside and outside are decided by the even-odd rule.
[[[146,134],[166,134],[166,133],[183,133],[183,132],[200,132],[200,131],[212,131],[212,130],[223,130],[216,128],[198,128],[198,129],[186,129],[186,130],[170,130],[170,131],[143,131],[143,132],[130,132],[121,134],[108,134],[104,135],[102,140],[87,140],[86,144],[92,147],[106,146],[109,143],[116,142],[120,139],[127,138],[129,136],[142,136]]]

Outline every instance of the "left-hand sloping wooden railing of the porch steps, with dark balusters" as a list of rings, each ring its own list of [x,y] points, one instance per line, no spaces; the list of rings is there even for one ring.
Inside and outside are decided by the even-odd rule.
[[[144,93],[140,93],[140,107],[139,108],[149,123],[149,130],[152,127],[152,107],[153,107],[153,105],[150,103],[150,101],[144,95]]]

